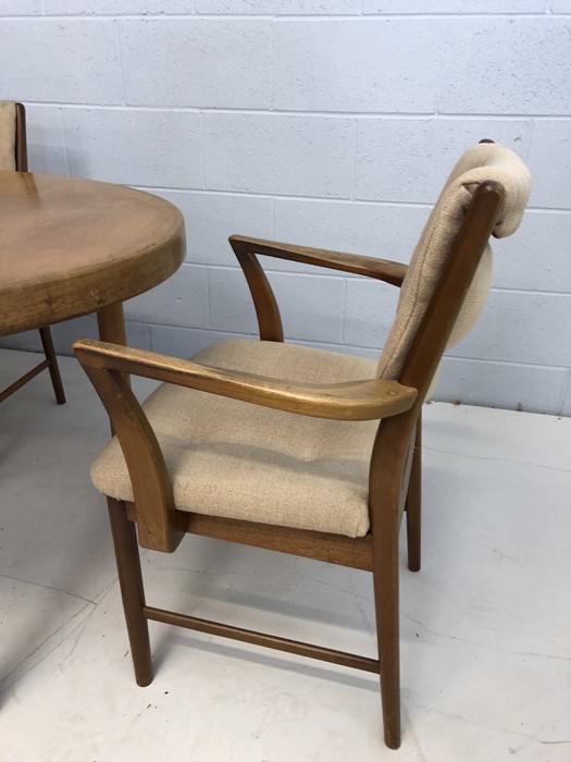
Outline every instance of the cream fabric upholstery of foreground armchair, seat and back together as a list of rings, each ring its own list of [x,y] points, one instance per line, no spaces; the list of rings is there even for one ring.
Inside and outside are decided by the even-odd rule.
[[[378,365],[307,347],[260,341],[215,344],[193,359],[298,382],[398,378],[440,268],[474,189],[497,180],[507,199],[495,235],[521,220],[529,173],[514,153],[482,144],[452,171],[412,257],[397,317]],[[487,249],[454,332],[480,314],[491,284]],[[172,476],[178,509],[360,537],[369,530],[368,482],[377,421],[332,421],[273,410],[164,384],[144,405]],[[133,501],[116,440],[97,458],[96,487]]]

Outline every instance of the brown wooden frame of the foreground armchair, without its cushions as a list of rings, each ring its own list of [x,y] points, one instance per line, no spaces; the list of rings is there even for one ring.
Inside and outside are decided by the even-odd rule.
[[[408,565],[421,564],[421,410],[431,380],[504,205],[504,188],[482,183],[474,193],[438,287],[420,324],[397,381],[300,385],[209,368],[149,352],[82,341],[75,354],[94,383],[120,439],[135,501],[108,499],[121,592],[135,675],[152,680],[148,619],[221,635],[290,653],[380,674],[385,742],[400,745],[398,538],[407,513]],[[407,267],[370,257],[232,236],[258,316],[260,337],[283,341],[275,297],[258,254],[359,273],[400,286]],[[128,374],[177,383],[291,413],[340,420],[380,419],[370,466],[371,530],[347,537],[275,527],[176,511],[157,439],[133,395]],[[172,552],[186,532],[293,553],[372,572],[378,659],[302,643],[218,622],[149,606],[137,545]]]

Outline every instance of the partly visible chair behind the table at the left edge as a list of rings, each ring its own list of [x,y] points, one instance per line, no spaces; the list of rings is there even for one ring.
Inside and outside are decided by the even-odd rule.
[[[27,172],[27,146],[26,146],[26,112],[23,103],[0,101],[0,170]],[[1,231],[0,231],[1,235]],[[65,402],[63,384],[58,366],[58,357],[53,348],[51,331],[48,325],[39,329],[41,346],[46,359],[24,373],[17,381],[0,392],[0,402],[35,378],[42,370],[49,370],[53,392],[59,405]]]

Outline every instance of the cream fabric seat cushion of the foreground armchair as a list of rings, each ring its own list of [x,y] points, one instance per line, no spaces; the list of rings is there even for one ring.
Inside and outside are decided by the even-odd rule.
[[[374,378],[376,369],[364,358],[253,340],[214,344],[193,359],[309,383]],[[144,409],[178,509],[348,537],[368,532],[377,421],[307,418],[171,384]],[[133,501],[116,439],[94,463],[91,478],[104,494]]]

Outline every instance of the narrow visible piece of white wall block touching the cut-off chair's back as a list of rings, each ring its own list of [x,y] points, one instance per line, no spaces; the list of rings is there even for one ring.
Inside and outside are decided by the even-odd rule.
[[[26,136],[30,172],[67,174],[60,108],[26,106]]]

